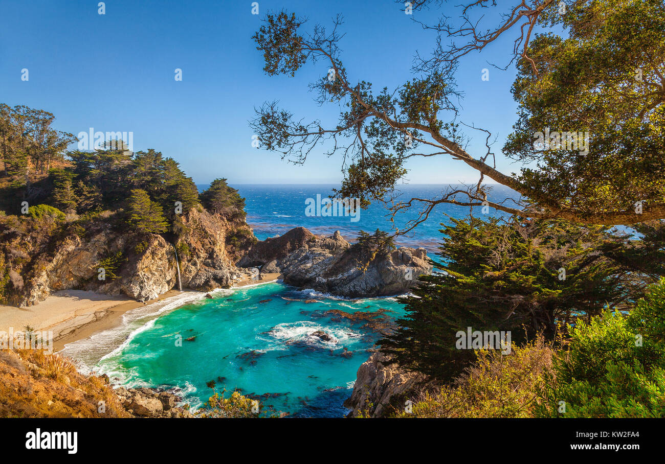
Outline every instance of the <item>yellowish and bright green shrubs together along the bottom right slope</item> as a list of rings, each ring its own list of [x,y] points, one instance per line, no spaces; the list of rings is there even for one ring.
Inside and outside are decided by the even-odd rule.
[[[414,392],[397,417],[665,417],[665,278],[626,317],[569,327],[561,350],[538,337],[505,356],[477,350],[453,385]]]

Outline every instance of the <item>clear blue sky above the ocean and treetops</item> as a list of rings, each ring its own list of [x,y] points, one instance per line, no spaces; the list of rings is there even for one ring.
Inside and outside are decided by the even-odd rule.
[[[344,15],[340,43],[351,80],[368,80],[374,89],[394,89],[412,78],[416,50],[429,53],[434,35],[410,21],[400,5],[383,1],[2,1],[0,102],[53,112],[55,127],[73,134],[93,127],[134,132],[134,150],[155,148],[171,156],[197,183],[227,177],[231,183],[337,183],[339,158],[314,152],[304,166],[251,147],[247,121],[266,100],[306,119],[333,120],[335,106],[318,106],[307,84],[327,74],[328,66],[307,64],[295,78],[263,74],[261,53],[251,36],[269,10],[287,9],[309,18],[309,25],[330,24]],[[459,2],[452,1],[450,5]],[[499,2],[500,3],[500,2]],[[402,6],[402,9],[404,7]],[[447,7],[444,5],[444,12]],[[450,13],[450,9],[448,9]],[[414,13],[434,21],[434,12]],[[516,119],[509,92],[513,68],[507,64],[511,39],[485,53],[468,55],[458,84],[466,93],[462,120],[498,136],[497,167],[519,170],[501,156],[505,136]],[[504,58],[505,57],[505,58]],[[21,80],[21,69],[29,80]],[[182,69],[183,80],[174,80]],[[489,68],[489,80],[481,70]],[[484,154],[484,136],[469,152]],[[73,148],[73,147],[72,147]],[[477,175],[449,158],[414,160],[410,183],[474,181]]]

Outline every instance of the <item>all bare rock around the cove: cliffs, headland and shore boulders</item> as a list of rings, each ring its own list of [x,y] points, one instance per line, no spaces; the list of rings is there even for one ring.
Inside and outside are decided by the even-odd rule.
[[[182,221],[176,245],[184,289],[210,291],[279,275],[287,285],[348,298],[392,296],[408,292],[418,284],[419,275],[432,271],[425,249],[402,247],[370,253],[350,244],[338,231],[325,237],[297,227],[281,237],[243,241],[238,247],[237,241],[228,243],[238,230],[253,237],[244,221],[228,223],[219,215],[197,209]],[[65,235],[48,250],[40,251],[37,243],[33,246],[33,252],[42,253],[37,261],[29,269],[17,268],[11,274],[13,295],[21,305],[34,305],[63,289],[125,294],[145,302],[178,285],[174,245],[161,235],[121,235],[100,221],[84,233]],[[112,279],[99,281],[97,268],[109,256],[122,259],[112,269]],[[26,273],[20,275],[21,270]],[[351,317],[345,313],[336,316]],[[372,314],[367,324],[383,330],[386,322],[382,314]],[[325,340],[329,335],[315,332],[313,336]],[[396,370],[386,360],[374,353],[358,369],[352,396],[345,402],[350,416],[369,413],[379,417],[390,410],[394,398],[424,380]],[[182,398],[174,392],[124,387],[113,392],[124,409],[121,416],[194,417],[188,407],[176,406]],[[368,402],[373,405],[370,411],[366,411]]]

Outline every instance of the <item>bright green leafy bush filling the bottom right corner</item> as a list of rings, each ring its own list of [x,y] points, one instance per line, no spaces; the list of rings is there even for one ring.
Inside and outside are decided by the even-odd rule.
[[[627,318],[608,311],[571,327],[538,415],[665,417],[664,308],[662,279]]]

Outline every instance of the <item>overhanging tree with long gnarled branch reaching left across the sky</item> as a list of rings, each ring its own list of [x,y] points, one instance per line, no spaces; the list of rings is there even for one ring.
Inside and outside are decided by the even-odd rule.
[[[444,3],[416,2],[414,11]],[[445,3],[439,23],[414,19],[436,33],[434,50],[431,57],[417,55],[412,78],[394,91],[374,90],[372,82],[351,76],[339,48],[340,17],[330,29],[305,29],[306,21],[294,13],[268,14],[254,36],[265,72],[293,76],[305,62],[323,62],[323,75],[310,88],[319,104],[339,108],[338,118],[324,126],[265,102],[251,122],[253,130],[264,148],[294,163],[305,162],[319,146],[329,156],[340,155],[345,177],[338,197],[358,197],[363,207],[376,200],[393,214],[422,207],[398,233],[425,221],[440,203],[485,202],[522,217],[585,224],[665,218],[662,1],[567,0],[565,11],[559,0],[500,3]],[[487,9],[505,15],[484,15]],[[483,22],[495,17],[501,19]],[[460,121],[457,106],[458,65],[472,51],[493,53],[489,49],[506,36],[517,37],[509,66],[514,63],[517,70],[513,95],[519,114],[503,153],[523,164],[519,174],[496,170],[491,130]],[[466,151],[471,136],[464,128],[480,134],[486,152]],[[536,150],[534,137],[546,130],[589,133],[588,154]],[[396,187],[409,160],[432,156],[464,162],[479,180],[434,198],[398,198]],[[488,201],[487,177],[520,193],[517,205]]]

